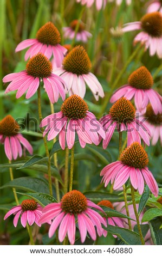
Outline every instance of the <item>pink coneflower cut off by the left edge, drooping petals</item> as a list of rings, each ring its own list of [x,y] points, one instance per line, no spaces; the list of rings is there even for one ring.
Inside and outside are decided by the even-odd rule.
[[[11,115],[0,121],[0,143],[4,143],[4,151],[9,160],[16,160],[18,155],[22,156],[22,145],[24,152],[27,149],[31,155],[33,154],[31,144],[18,132],[19,130],[20,126]]]

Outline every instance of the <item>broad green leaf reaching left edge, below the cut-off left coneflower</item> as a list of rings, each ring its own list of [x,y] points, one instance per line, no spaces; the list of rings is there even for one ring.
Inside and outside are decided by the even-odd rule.
[[[41,178],[33,178],[33,177],[21,177],[14,180],[9,181],[7,184],[0,187],[15,187],[16,189],[29,191],[29,192],[44,192],[48,193],[48,183]]]

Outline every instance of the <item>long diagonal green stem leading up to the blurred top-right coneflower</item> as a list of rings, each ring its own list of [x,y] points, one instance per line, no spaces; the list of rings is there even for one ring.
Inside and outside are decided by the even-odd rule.
[[[141,47],[141,45],[139,44],[139,45],[137,46],[137,48],[135,48],[134,52],[131,54],[131,56],[129,56],[129,58],[128,58],[126,64],[124,65],[124,68],[120,71],[119,75],[116,77],[114,83],[113,83],[112,86],[111,86],[111,92],[106,95],[105,101],[103,101],[101,113],[104,113],[104,111],[105,111],[105,109],[106,109],[106,107],[107,107],[107,104],[108,104],[108,102],[109,102],[109,99],[110,99],[110,97],[111,97],[111,95],[112,95],[113,90],[115,89],[115,87],[116,87],[117,84],[119,83],[119,81],[120,81],[122,75],[124,74],[124,72],[125,72],[126,69],[127,69],[127,66],[132,62],[132,60],[134,59],[134,57],[135,57],[136,54],[138,53],[140,47]]]

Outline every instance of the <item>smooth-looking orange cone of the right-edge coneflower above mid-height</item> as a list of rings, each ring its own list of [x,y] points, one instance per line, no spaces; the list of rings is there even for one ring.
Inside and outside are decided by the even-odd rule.
[[[153,86],[153,78],[148,69],[141,66],[129,76],[128,83],[137,89],[150,89]]]

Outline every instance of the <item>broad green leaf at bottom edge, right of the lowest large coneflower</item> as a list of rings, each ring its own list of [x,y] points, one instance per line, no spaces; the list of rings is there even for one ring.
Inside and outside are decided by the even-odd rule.
[[[126,228],[114,227],[113,225],[102,226],[109,233],[118,236],[126,245],[141,245],[140,236]]]

